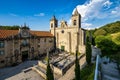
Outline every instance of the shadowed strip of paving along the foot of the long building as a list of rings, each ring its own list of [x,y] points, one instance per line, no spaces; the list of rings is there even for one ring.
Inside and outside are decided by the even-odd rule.
[[[5,80],[11,76],[21,73],[22,70],[36,65],[38,61],[25,61],[18,66],[0,69],[0,80]]]

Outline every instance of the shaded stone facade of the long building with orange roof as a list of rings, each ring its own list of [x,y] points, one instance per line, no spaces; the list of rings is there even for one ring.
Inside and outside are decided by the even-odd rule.
[[[0,55],[0,67],[11,66],[14,63],[22,62],[22,51],[28,51],[28,59],[38,57],[47,53],[47,50],[54,49],[54,39],[53,37],[37,37],[37,38],[27,38],[28,46],[20,47],[24,39],[5,39],[4,54]],[[39,41],[40,40],[40,41]],[[32,53],[32,47],[34,51]],[[15,51],[17,52],[15,53]],[[33,54],[33,55],[32,55]],[[17,60],[16,60],[17,58]],[[3,63],[1,63],[3,61]]]

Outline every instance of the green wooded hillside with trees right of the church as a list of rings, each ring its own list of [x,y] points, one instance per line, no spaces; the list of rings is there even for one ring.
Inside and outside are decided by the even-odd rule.
[[[95,45],[103,54],[120,54],[120,21],[106,24],[91,32]]]

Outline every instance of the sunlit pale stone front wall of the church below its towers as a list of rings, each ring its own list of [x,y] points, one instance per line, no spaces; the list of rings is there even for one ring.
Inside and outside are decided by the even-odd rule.
[[[51,29],[52,32],[53,30]],[[80,53],[85,52],[85,38],[82,29],[78,30],[77,27],[55,28],[55,36],[57,48],[61,49],[61,46],[64,46],[65,51],[75,53],[76,46],[78,46],[80,49],[82,47],[82,50],[79,49]]]

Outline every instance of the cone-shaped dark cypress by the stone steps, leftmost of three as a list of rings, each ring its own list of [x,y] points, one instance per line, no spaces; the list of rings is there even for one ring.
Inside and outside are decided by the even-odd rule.
[[[47,72],[46,72],[46,77],[47,77],[46,80],[54,80],[54,75],[53,75],[52,69],[50,67],[48,55],[47,55]]]

